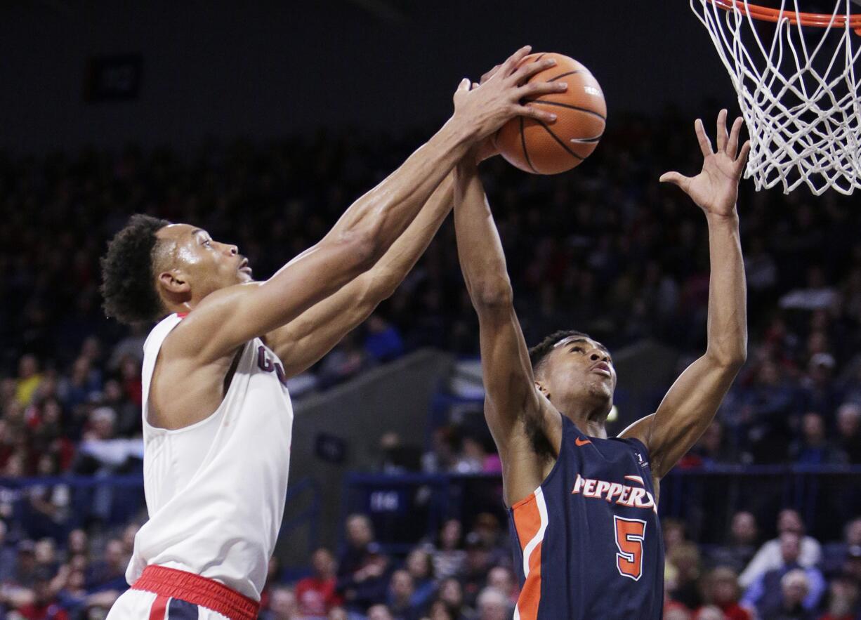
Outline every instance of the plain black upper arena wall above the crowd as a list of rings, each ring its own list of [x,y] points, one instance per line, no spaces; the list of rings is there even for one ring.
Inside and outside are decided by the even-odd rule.
[[[735,99],[687,2],[0,3],[0,149],[195,146],[443,121],[464,76],[523,44],[585,63],[619,110]],[[133,101],[86,102],[92,59],[139,54]]]

